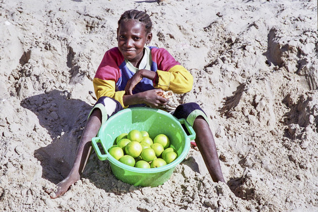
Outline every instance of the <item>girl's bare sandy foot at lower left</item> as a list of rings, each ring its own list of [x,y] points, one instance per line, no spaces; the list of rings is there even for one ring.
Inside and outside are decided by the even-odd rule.
[[[65,178],[63,181],[58,183],[57,185],[58,190],[56,192],[51,188],[46,189],[45,192],[48,193],[48,195],[52,199],[58,198],[59,196],[62,196],[63,194],[65,194],[65,192],[69,190],[71,185],[73,185],[79,179],[80,179],[80,175],[73,176],[70,174],[67,178]]]

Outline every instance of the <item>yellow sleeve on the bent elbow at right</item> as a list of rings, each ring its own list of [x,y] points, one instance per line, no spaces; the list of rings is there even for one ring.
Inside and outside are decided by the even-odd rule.
[[[169,71],[157,70],[157,75],[158,83],[155,88],[172,90],[174,93],[186,93],[192,89],[193,76],[183,66],[176,65]]]

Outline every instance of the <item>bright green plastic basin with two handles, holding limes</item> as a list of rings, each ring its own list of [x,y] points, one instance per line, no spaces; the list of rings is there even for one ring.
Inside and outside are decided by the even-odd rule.
[[[188,131],[184,131],[184,128]],[[178,152],[178,157],[172,163],[151,169],[130,167],[117,161],[109,154],[108,149],[116,144],[116,138],[131,130],[145,130],[151,139],[158,134],[165,134],[170,144]],[[171,114],[152,108],[125,109],[112,116],[101,125],[97,137],[92,138],[92,145],[99,160],[109,160],[115,177],[134,186],[155,187],[165,183],[173,174],[174,169],[183,161],[190,148],[190,140],[195,138],[193,128],[185,119],[176,119]],[[100,143],[104,154],[97,146]]]

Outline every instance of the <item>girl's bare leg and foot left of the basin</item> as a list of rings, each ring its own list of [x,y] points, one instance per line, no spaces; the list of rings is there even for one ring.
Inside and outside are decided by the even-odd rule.
[[[97,135],[97,132],[101,126],[101,112],[99,109],[95,109],[91,116],[88,118],[84,131],[82,133],[82,138],[79,143],[76,158],[73,165],[73,168],[69,175],[60,183],[58,183],[58,190],[56,192],[52,191],[52,189],[45,190],[46,193],[52,199],[55,199],[65,192],[73,185],[76,181],[78,181],[81,177],[81,174],[84,171],[85,165],[87,163],[88,157],[91,153],[91,139]]]

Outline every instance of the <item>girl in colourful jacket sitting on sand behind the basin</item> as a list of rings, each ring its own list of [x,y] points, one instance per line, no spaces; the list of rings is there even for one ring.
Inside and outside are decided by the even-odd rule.
[[[142,11],[129,10],[120,17],[118,47],[105,52],[93,79],[98,100],[89,114],[74,166],[67,178],[57,185],[56,192],[46,190],[51,198],[63,195],[80,179],[91,152],[91,138],[109,117],[128,107],[162,108],[168,99],[159,93],[167,90],[186,93],[192,89],[192,75],[166,49],[147,46],[152,39],[151,27],[149,16]],[[199,105],[181,104],[173,115],[185,118],[193,126],[195,142],[209,174],[215,182],[225,182],[213,134]]]

